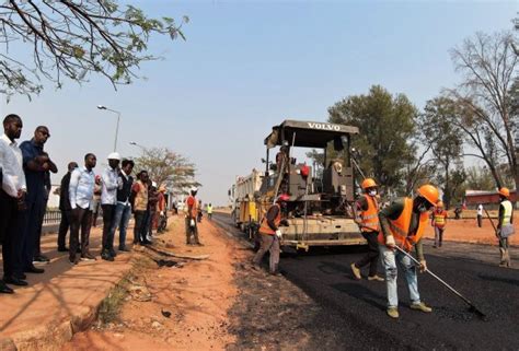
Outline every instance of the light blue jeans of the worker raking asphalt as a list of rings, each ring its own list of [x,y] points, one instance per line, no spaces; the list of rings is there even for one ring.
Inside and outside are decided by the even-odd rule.
[[[396,286],[396,262],[400,268],[404,271],[405,280],[407,282],[407,289],[410,291],[411,302],[418,304],[418,278],[416,277],[415,264],[402,254],[401,251],[392,250],[385,245],[379,245],[380,254],[382,256],[382,262],[385,269],[385,286],[388,289],[388,307],[399,306],[399,293]]]

